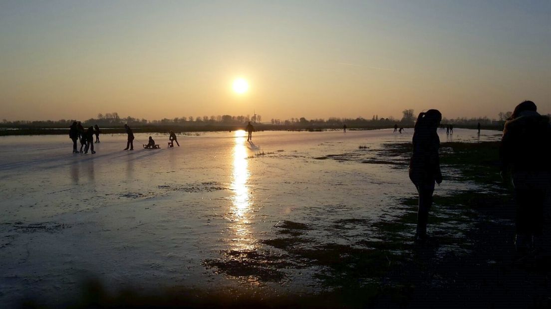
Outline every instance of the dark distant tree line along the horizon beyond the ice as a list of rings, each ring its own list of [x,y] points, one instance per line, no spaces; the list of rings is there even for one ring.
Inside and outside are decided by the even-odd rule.
[[[458,117],[455,119],[442,119],[442,124],[454,124],[464,126],[476,126],[478,123],[484,126],[500,126],[503,125],[505,120],[511,116],[511,112],[500,112],[498,119],[490,119],[486,116],[478,118]],[[551,114],[549,114],[551,116]],[[401,119],[395,119],[390,116],[388,118],[379,117],[379,115],[373,115],[371,119],[363,117],[357,118],[338,118],[329,117],[328,119],[306,119],[305,117],[297,117],[290,119],[270,119],[269,122],[262,123],[261,115],[217,115],[217,116],[183,116],[172,119],[164,118],[160,120],[147,120],[144,118],[133,117],[120,117],[118,113],[106,113],[98,114],[96,118],[90,118],[82,121],[84,126],[98,124],[100,127],[112,127],[120,128],[125,124],[134,127],[143,126],[240,126],[247,122],[262,126],[272,127],[290,127],[290,128],[342,128],[346,124],[349,128],[383,128],[390,127],[395,124],[400,126],[412,126],[417,120],[413,109],[404,109]],[[74,119],[61,119],[61,120],[15,120],[8,121],[3,119],[0,126],[2,128],[66,128],[70,126]]]

